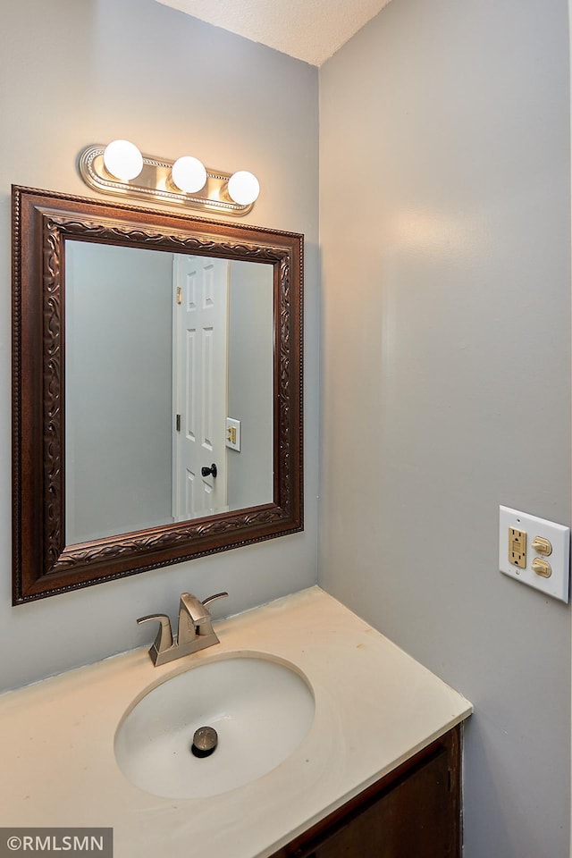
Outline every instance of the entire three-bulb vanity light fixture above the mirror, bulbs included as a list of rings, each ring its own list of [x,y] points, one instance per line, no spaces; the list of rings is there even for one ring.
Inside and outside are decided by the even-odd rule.
[[[260,192],[257,177],[240,170],[210,170],[192,156],[168,161],[142,155],[129,140],[88,146],[80,154],[80,175],[105,194],[142,197],[206,212],[248,214]]]

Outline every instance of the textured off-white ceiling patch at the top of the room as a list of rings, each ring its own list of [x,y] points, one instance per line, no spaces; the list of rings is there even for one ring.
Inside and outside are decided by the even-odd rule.
[[[322,65],[389,0],[158,0],[312,65]]]

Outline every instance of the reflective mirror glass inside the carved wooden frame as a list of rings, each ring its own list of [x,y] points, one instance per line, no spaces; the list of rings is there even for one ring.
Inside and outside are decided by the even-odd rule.
[[[65,246],[66,543],[273,500],[273,268]]]

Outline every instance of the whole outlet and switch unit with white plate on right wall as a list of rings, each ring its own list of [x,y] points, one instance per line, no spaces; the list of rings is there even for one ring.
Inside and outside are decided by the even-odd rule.
[[[501,572],[554,599],[568,602],[569,564],[569,527],[517,509],[500,507]]]

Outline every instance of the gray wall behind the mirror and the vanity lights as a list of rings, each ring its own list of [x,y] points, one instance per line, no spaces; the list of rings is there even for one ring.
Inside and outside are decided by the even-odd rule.
[[[306,531],[11,607],[10,185],[95,196],[76,162],[132,139],[257,173],[246,219],[306,234],[306,381],[317,387],[317,71],[154,0],[19,0],[0,30],[0,688],[150,641],[135,619],[176,613],[179,593],[228,590],[232,613],[315,583],[317,403],[307,400]]]

